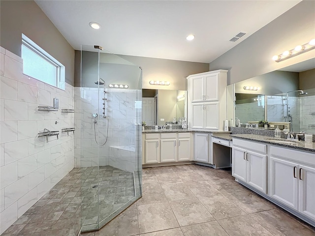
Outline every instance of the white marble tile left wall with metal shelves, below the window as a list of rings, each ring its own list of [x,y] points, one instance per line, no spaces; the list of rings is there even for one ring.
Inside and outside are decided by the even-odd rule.
[[[59,111],[38,111],[54,98]],[[73,109],[73,87],[24,75],[23,60],[0,47],[0,234],[73,169],[74,136],[61,129],[73,127],[74,114],[61,109]],[[59,139],[38,138],[44,128]]]

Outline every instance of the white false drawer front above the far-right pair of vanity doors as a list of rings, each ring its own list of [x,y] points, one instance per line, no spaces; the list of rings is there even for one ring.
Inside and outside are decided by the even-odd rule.
[[[294,162],[303,162],[315,166],[315,154],[293,150],[291,148],[281,148],[277,146],[270,146],[270,153],[273,156],[279,156],[286,159],[290,159]]]

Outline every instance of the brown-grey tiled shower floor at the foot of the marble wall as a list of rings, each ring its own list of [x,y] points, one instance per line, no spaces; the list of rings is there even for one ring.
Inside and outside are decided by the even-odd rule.
[[[77,236],[81,223],[97,223],[98,209],[103,220],[134,196],[133,173],[74,168],[1,236]]]

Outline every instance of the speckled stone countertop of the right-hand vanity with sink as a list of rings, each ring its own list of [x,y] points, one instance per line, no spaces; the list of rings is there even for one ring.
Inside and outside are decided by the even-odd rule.
[[[277,140],[284,141],[285,139],[279,139],[274,138],[270,136],[264,136],[264,135],[256,135],[256,134],[231,134],[232,138],[240,138],[240,139],[246,139],[251,141],[258,141],[266,144],[272,144],[276,146],[282,146],[285,148],[293,148],[298,150],[305,150],[305,151],[311,151],[315,152],[315,142],[304,142],[304,141],[296,141],[290,144],[290,143],[277,143]],[[274,142],[273,142],[274,140]]]

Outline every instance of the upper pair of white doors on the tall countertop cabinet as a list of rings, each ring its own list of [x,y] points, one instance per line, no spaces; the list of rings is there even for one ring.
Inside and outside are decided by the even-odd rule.
[[[219,100],[219,73],[189,77],[191,102]]]

